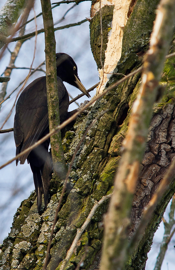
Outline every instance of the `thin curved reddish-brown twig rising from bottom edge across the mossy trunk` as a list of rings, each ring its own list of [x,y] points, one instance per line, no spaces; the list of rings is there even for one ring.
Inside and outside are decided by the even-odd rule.
[[[66,178],[65,178],[64,186],[63,186],[62,193],[61,193],[61,196],[60,196],[60,199],[59,199],[59,204],[58,204],[58,206],[57,206],[57,208],[56,208],[56,211],[55,211],[55,218],[54,218],[54,220],[53,220],[52,231],[51,231],[51,234],[50,234],[49,243],[48,243],[48,245],[47,245],[47,254],[46,254],[45,262],[44,262],[44,265],[43,265],[43,270],[45,270],[46,267],[47,267],[47,262],[48,262],[48,259],[49,259],[49,253],[50,253],[50,246],[51,246],[51,242],[52,242],[52,238],[53,238],[53,231],[54,231],[54,227],[55,227],[56,220],[57,220],[57,214],[58,214],[58,212],[59,212],[60,205],[61,205],[61,202],[62,202],[62,198],[63,198],[63,195],[64,195],[65,190],[66,190],[66,185],[67,185],[67,182],[68,182],[69,174],[70,174],[70,172],[71,172],[71,168],[72,168],[72,164],[73,164],[73,162],[74,162],[75,156],[76,156],[76,154],[77,154],[77,152],[78,152],[78,150],[79,150],[79,148],[80,148],[81,143],[82,143],[83,140],[85,139],[85,137],[86,137],[86,135],[87,135],[89,129],[91,129],[92,126],[95,124],[95,122],[98,120],[98,118],[101,117],[101,116],[102,116],[104,113],[106,113],[107,111],[108,111],[108,110],[106,110],[106,111],[100,113],[100,114],[92,121],[92,123],[89,125],[89,127],[86,128],[86,131],[84,132],[82,139],[80,140],[79,144],[77,145],[77,147],[76,147],[76,149],[75,149],[74,155],[73,155],[73,157],[72,157],[72,159],[71,159],[71,163],[70,163],[70,165],[69,165],[69,170],[68,170],[67,175],[66,175]]]

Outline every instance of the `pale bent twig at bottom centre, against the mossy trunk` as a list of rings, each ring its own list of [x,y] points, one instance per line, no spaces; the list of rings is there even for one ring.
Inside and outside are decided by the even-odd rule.
[[[111,196],[112,196],[112,193],[109,194],[109,195],[107,195],[107,196],[103,196],[101,198],[101,200],[99,200],[99,202],[95,202],[95,204],[92,207],[92,209],[91,209],[88,217],[86,218],[85,222],[83,223],[83,225],[81,226],[80,229],[77,229],[77,234],[76,234],[76,236],[74,238],[73,243],[71,244],[70,249],[67,252],[67,255],[66,255],[65,259],[62,262],[62,265],[60,267],[60,270],[64,270],[65,267],[66,267],[66,265],[68,264],[68,261],[70,260],[72,254],[74,252],[74,248],[76,247],[78,240],[80,239],[83,231],[86,229],[86,227],[88,226],[89,222],[91,221],[91,219],[92,219],[93,215],[95,214],[95,211],[97,210],[98,206],[100,206],[105,200],[109,199]]]

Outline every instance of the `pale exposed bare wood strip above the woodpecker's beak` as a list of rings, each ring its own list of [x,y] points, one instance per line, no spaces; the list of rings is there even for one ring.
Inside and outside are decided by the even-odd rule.
[[[128,20],[127,13],[130,3],[131,0],[114,1],[115,7],[113,10],[112,29],[108,33],[108,43],[104,61],[104,72],[112,73],[121,57],[123,30]],[[103,1],[102,4],[104,4]],[[99,95],[101,92],[103,92],[105,85],[111,76],[104,73],[103,78],[103,70],[98,69],[98,72],[101,80],[100,85],[97,87],[96,95]]]

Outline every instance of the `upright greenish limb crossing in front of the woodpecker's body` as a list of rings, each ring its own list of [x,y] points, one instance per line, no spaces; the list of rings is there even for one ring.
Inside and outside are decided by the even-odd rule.
[[[50,0],[41,0],[45,53],[46,53],[46,83],[47,83],[47,103],[49,113],[49,129],[56,128],[59,124],[59,98],[56,79],[56,41],[53,27],[52,8]],[[59,177],[64,178],[67,173],[64,152],[62,148],[61,132],[50,137],[53,166]]]

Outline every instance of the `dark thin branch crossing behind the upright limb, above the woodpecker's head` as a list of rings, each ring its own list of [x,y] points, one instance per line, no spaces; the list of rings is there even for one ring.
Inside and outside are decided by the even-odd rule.
[[[88,21],[87,19],[84,19],[84,20],[82,20],[80,22],[74,22],[74,23],[66,24],[64,26],[59,26],[59,27],[54,28],[54,31],[65,29],[65,28],[69,28],[69,27],[73,27],[73,26],[77,26],[77,25],[80,25],[80,24],[82,24],[84,22],[87,22],[87,21]],[[40,29],[40,30],[37,31],[37,35],[38,34],[41,34],[41,33],[44,33],[44,28],[42,28],[42,29]],[[32,33],[29,33],[27,35],[23,35],[22,37],[11,38],[11,40],[10,41],[7,40],[7,42],[8,43],[9,42],[14,42],[14,41],[18,41],[18,40],[21,40],[21,39],[22,40],[26,40],[26,39],[32,38],[34,36],[35,36],[35,32],[32,32]]]

